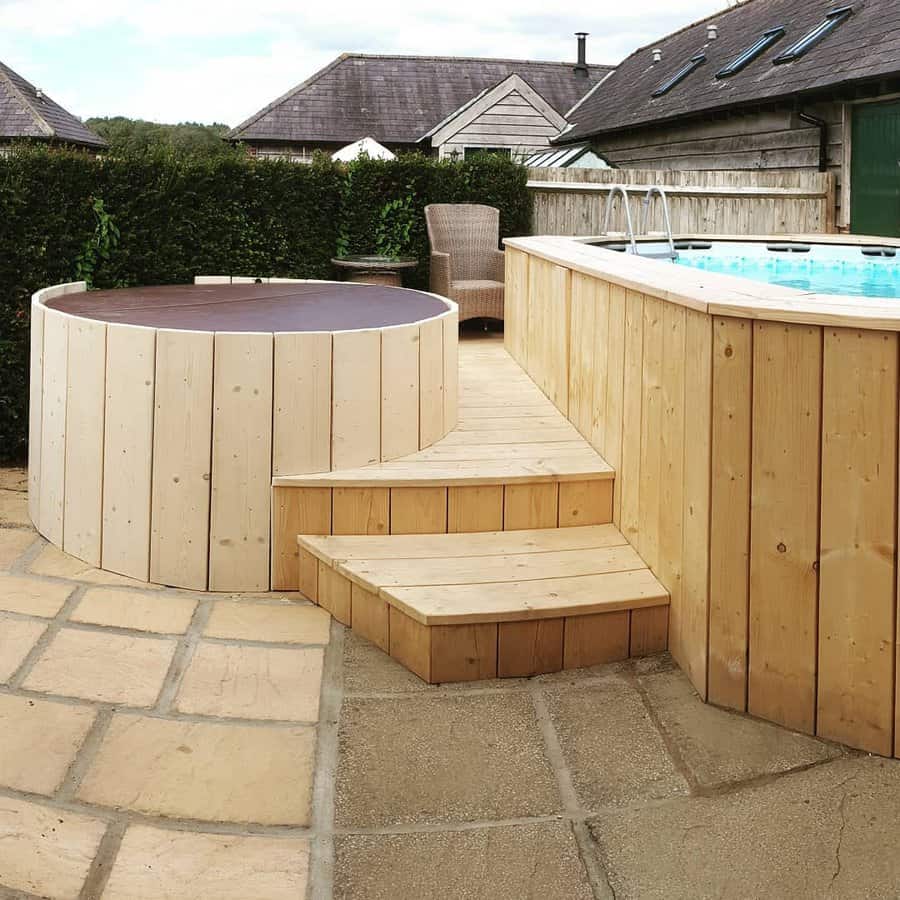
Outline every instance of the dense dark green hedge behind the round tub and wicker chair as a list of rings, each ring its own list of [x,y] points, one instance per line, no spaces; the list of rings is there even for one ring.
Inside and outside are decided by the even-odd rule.
[[[94,274],[97,288],[188,283],[201,273],[331,278],[330,259],[393,239],[424,261],[428,203],[497,206],[503,236],[527,234],[531,198],[520,166],[482,156],[442,163],[420,155],[349,166],[164,153],[93,159],[23,146],[0,157],[0,462],[27,448],[31,294],[74,278],[99,198],[120,239]],[[399,202],[398,202],[399,201]],[[397,207],[397,211],[392,209]]]

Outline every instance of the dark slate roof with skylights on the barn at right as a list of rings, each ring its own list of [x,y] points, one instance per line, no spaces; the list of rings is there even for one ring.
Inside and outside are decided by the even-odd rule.
[[[772,60],[812,31],[825,15],[852,6],[842,25],[794,62]],[[707,40],[709,25],[718,39]],[[778,26],[785,36],[746,69],[731,78],[716,72]],[[662,50],[653,65],[652,51]],[[691,57],[705,52],[707,61],[668,94],[650,95]],[[745,0],[637,50],[570,116],[573,127],[557,142],[584,140],[597,134],[660,123],[727,107],[811,95],[816,92],[885,78],[900,73],[900,2],[898,0]]]

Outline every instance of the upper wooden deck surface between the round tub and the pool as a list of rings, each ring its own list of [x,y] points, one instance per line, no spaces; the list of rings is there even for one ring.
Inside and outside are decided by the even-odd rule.
[[[460,338],[459,423],[433,446],[378,465],[281,475],[272,483],[415,487],[613,477],[606,460],[541,393],[498,335]]]

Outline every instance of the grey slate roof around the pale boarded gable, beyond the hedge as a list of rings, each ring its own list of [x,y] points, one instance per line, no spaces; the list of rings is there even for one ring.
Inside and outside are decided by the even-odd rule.
[[[513,73],[559,113],[573,107],[611,66],[440,56],[344,53],[234,128],[246,141],[355,141],[411,144],[476,94]]]

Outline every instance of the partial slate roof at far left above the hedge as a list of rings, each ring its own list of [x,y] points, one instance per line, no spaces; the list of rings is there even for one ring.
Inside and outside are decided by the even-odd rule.
[[[40,138],[105,147],[99,135],[0,62],[0,138]]]

